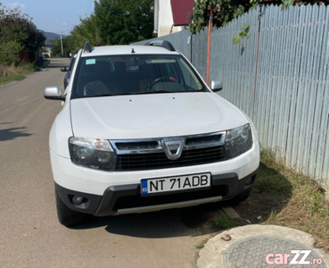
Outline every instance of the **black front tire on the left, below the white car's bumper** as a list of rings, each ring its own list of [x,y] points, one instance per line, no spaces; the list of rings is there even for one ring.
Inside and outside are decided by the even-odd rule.
[[[55,199],[57,208],[58,221],[65,226],[76,225],[86,220],[86,214],[78,213],[71,210],[67,205],[62,202],[57,189],[55,188]]]

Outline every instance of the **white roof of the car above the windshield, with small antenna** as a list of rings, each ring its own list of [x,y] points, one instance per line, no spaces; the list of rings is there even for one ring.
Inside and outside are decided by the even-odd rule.
[[[179,54],[177,51],[169,51],[161,46],[95,46],[91,52],[82,51],[81,57],[115,54]]]

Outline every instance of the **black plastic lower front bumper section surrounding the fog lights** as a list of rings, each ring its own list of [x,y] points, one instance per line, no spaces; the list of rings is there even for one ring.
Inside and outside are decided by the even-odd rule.
[[[257,172],[258,170],[251,172],[240,180],[233,172],[213,175],[211,187],[208,189],[179,190],[149,197],[141,195],[140,184],[114,185],[106,188],[103,196],[70,190],[57,183],[55,187],[64,204],[70,209],[95,216],[107,216],[159,211],[230,199],[251,188]],[[83,197],[84,202],[76,205],[73,203],[73,197]]]

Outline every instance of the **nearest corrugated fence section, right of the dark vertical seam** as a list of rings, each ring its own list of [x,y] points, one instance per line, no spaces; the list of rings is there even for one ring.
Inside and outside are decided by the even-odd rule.
[[[263,7],[252,116],[264,147],[328,180],[329,7]],[[251,113],[249,113],[251,114]]]

